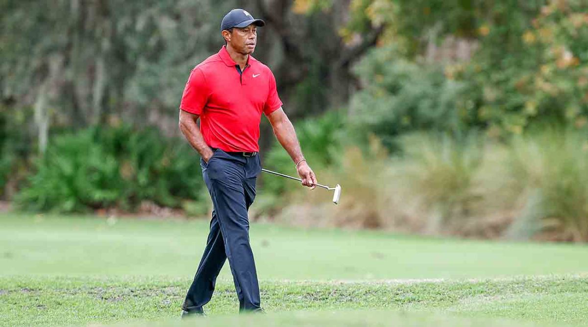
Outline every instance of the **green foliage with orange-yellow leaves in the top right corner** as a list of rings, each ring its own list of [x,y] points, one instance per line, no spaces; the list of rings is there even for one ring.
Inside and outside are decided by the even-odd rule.
[[[533,15],[505,13],[485,25],[472,62],[450,68],[491,132],[521,133],[535,122],[586,127],[587,9],[584,1],[550,1]]]

